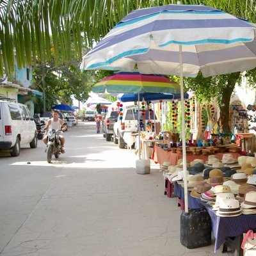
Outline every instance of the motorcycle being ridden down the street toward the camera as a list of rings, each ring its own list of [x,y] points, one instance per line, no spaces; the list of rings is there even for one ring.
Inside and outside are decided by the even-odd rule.
[[[52,155],[55,156],[55,158],[59,158],[61,154],[61,141],[60,141],[60,134],[62,133],[62,130],[54,130],[49,129],[47,133],[47,145],[46,145],[46,155],[47,155],[47,163],[51,163],[52,161]]]

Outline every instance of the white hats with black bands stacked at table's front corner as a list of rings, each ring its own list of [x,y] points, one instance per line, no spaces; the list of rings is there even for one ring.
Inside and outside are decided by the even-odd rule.
[[[220,207],[216,212],[220,217],[235,217],[242,214],[242,209],[238,200],[234,198],[223,199],[220,202]]]

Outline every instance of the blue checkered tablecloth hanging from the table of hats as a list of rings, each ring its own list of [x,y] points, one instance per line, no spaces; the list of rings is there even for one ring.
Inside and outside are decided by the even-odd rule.
[[[184,200],[184,188],[175,182],[174,194]],[[188,207],[196,209],[205,207],[211,216],[212,233],[215,237],[214,252],[216,252],[221,244],[225,243],[226,237],[236,237],[246,233],[249,229],[256,228],[256,214],[239,215],[236,217],[220,217],[217,216],[212,207],[202,202],[199,198],[193,198],[188,191]]]

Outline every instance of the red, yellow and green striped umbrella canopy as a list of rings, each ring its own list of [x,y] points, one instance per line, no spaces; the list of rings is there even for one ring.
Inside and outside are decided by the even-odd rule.
[[[180,86],[161,75],[145,75],[139,72],[118,72],[105,77],[102,81],[95,84],[92,91],[108,93],[178,93],[180,92]]]

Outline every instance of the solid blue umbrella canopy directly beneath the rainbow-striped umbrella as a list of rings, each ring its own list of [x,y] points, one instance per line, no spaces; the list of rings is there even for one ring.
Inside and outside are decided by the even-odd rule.
[[[159,101],[159,100],[173,100],[180,99],[180,93],[151,93],[151,92],[140,92],[140,101]],[[184,93],[184,99],[188,99],[188,93]],[[117,95],[117,99],[122,102],[137,101],[138,93],[120,93]]]

